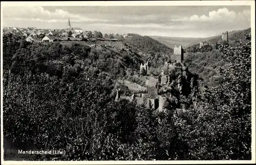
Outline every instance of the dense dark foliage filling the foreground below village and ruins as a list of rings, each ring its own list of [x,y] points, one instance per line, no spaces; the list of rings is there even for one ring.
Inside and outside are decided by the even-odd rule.
[[[114,102],[115,72],[95,65],[100,60],[108,64],[114,52],[79,45],[62,51],[53,45],[42,49],[13,37],[4,40],[4,143],[12,144],[5,151],[67,151],[24,158],[33,160],[251,159],[250,42],[222,45],[226,65],[218,69],[219,84],[201,87],[186,111],[167,107],[166,114],[125,100]],[[79,60],[87,67],[76,66]],[[58,67],[51,70],[52,65]],[[12,157],[5,152],[5,158]]]

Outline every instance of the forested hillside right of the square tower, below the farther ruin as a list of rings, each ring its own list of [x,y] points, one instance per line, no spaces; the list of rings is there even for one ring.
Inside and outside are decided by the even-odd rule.
[[[229,35],[228,45],[234,47],[239,46],[241,43],[247,43],[246,34],[250,33],[250,28],[244,31],[233,32]],[[216,43],[219,44],[216,45]],[[184,58],[184,63],[193,73],[198,73],[207,83],[212,86],[218,83],[219,77],[217,76],[217,70],[219,67],[224,66],[225,63],[220,56],[220,45],[221,45],[221,36],[212,38],[208,43],[212,44],[201,49],[191,52],[190,49]],[[194,47],[199,46],[199,44],[194,45]]]

